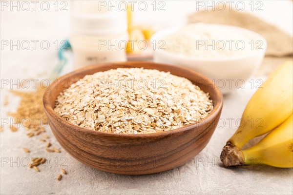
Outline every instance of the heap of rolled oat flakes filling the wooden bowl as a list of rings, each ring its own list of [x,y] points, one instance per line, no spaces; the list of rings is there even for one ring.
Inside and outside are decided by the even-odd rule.
[[[186,78],[143,68],[86,75],[55,102],[60,117],[80,127],[115,134],[173,130],[206,117],[209,94]]]

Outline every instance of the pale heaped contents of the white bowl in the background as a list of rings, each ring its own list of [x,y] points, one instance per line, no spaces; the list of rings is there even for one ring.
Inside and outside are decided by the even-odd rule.
[[[251,53],[255,40],[236,28],[216,24],[188,24],[167,35],[167,52],[195,58],[226,58]]]

